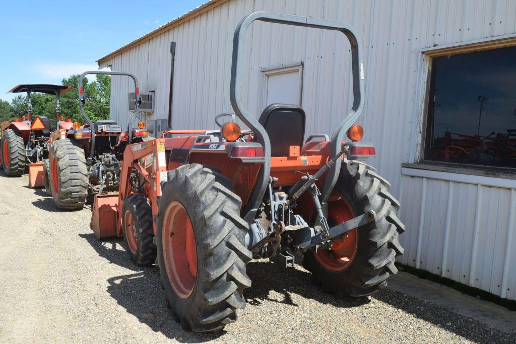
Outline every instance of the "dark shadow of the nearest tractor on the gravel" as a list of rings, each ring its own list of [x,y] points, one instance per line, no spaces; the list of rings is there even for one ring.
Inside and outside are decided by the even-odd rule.
[[[80,234],[95,248],[100,255],[111,263],[133,270],[133,273],[112,277],[107,280],[107,292],[117,303],[124,307],[127,313],[135,316],[140,323],[146,324],[154,332],[159,332],[169,339],[184,343],[199,343],[209,340],[224,340],[226,331],[213,333],[192,333],[184,331],[176,323],[165,302],[165,291],[161,288],[159,271],[156,266],[137,267],[132,263],[127,253],[121,249],[112,249],[111,244],[118,244],[120,239],[109,242],[98,242],[93,234]],[[108,245],[106,245],[108,244]],[[310,273],[299,269],[284,269],[268,261],[257,261],[248,264],[248,274],[253,280],[251,288],[244,296],[247,307],[260,306],[263,302],[279,302],[294,307],[292,294],[298,294],[305,299],[313,299],[321,303],[330,303],[336,307],[357,307],[369,302],[368,298],[337,299],[322,291],[310,282]],[[270,279],[264,279],[270,276]],[[282,295],[282,298],[271,297],[271,292]],[[241,315],[241,311],[240,311]]]

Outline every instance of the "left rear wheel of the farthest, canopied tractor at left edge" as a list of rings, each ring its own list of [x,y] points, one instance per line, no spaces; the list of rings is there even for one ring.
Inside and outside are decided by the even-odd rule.
[[[2,167],[9,177],[20,177],[25,172],[25,144],[23,137],[12,129],[2,135]]]

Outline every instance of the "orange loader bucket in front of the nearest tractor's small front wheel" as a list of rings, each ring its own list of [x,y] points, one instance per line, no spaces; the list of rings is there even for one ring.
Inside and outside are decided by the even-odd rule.
[[[119,236],[117,217],[118,194],[95,195],[90,228],[97,239]]]

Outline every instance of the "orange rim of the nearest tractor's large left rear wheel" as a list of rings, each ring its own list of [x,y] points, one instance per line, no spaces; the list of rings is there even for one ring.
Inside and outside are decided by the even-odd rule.
[[[187,299],[197,279],[197,248],[190,217],[183,205],[172,202],[163,221],[163,260],[172,288]]]

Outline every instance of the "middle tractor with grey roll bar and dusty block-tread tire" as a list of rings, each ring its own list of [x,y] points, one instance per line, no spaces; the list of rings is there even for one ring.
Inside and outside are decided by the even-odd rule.
[[[133,79],[135,112],[128,121],[127,131],[122,131],[121,125],[111,119],[93,122],[86,114],[83,79],[88,74],[122,75]],[[117,190],[125,147],[149,136],[143,122],[138,123],[138,129],[133,128],[140,104],[138,80],[131,73],[89,71],[79,76],[79,108],[86,124],[80,126],[75,122],[66,133],[53,133],[49,160],[45,162],[45,185],[49,185],[58,208],[81,209],[89,193]]]

